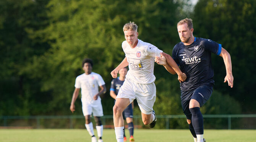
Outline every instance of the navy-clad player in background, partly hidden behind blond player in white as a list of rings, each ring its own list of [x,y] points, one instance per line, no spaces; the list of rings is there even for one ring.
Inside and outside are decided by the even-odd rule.
[[[119,77],[113,79],[111,81],[111,86],[110,86],[110,96],[113,99],[117,98],[118,95],[118,91],[120,89],[120,87],[123,85],[123,82],[125,81],[125,76],[127,74],[127,68],[122,68],[118,71]],[[133,138],[133,102],[131,104],[129,104],[128,107],[126,107],[125,110],[123,110],[123,119],[126,120],[126,123],[128,125],[128,130],[130,132],[130,142],[134,141]],[[125,130],[125,129],[124,129]],[[124,138],[123,141],[125,142],[126,136],[124,133]]]

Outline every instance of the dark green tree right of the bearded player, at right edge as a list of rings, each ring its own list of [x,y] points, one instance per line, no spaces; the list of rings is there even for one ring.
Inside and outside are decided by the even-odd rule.
[[[256,1],[255,0],[199,0],[194,8],[194,35],[210,38],[224,47],[231,55],[234,87],[223,83],[225,65],[221,57],[213,55],[215,89],[240,101],[243,111],[253,113],[256,72],[253,59],[256,54]]]

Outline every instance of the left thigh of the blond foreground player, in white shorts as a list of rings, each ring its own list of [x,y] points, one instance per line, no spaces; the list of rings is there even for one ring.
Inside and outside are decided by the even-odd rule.
[[[130,103],[133,102],[135,99],[135,84],[129,79],[125,79],[125,82],[123,82],[123,85],[120,87],[120,90],[118,91],[117,98],[128,98],[130,100]],[[117,99],[116,98],[116,99]]]

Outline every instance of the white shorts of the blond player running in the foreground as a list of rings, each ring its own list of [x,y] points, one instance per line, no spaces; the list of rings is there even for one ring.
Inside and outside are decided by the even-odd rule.
[[[126,78],[117,98],[128,98],[130,103],[137,99],[141,112],[143,114],[151,114],[156,101],[156,85],[154,82],[151,84],[139,84]]]

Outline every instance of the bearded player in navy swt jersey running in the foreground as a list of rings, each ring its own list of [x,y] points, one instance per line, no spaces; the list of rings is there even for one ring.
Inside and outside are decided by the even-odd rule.
[[[177,29],[181,42],[174,46],[172,58],[187,76],[186,80],[180,83],[181,106],[194,137],[194,142],[205,142],[203,138],[203,115],[200,107],[211,97],[213,91],[214,73],[211,65],[211,53],[223,58],[227,73],[224,82],[228,82],[228,86],[232,88],[231,58],[221,44],[211,39],[194,37],[192,19],[186,18],[178,22]],[[155,62],[164,65],[167,71],[175,74],[163,55],[156,57]]]

